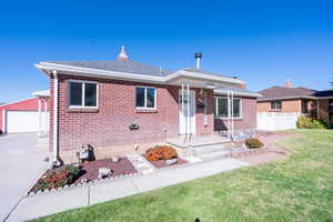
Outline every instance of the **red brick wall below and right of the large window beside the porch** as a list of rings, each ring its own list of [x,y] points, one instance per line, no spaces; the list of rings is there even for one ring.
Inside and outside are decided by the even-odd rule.
[[[214,130],[225,131],[228,121],[223,118],[214,119]],[[242,118],[234,119],[235,130],[256,129],[256,99],[242,98]]]

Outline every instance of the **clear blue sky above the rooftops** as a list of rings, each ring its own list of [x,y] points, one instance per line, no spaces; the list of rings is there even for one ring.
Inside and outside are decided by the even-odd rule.
[[[329,89],[332,1],[2,1],[0,102],[48,89],[33,64],[130,59],[164,69],[195,64],[248,82]]]

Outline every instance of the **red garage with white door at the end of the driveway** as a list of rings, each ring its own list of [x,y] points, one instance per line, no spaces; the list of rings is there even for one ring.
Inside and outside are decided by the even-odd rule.
[[[36,98],[0,105],[0,130],[2,133],[46,132],[49,91],[39,91]],[[47,93],[47,94],[46,94]]]

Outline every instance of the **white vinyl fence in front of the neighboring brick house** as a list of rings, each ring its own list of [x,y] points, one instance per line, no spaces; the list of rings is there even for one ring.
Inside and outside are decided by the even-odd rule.
[[[278,131],[296,129],[299,112],[258,112],[258,130]]]

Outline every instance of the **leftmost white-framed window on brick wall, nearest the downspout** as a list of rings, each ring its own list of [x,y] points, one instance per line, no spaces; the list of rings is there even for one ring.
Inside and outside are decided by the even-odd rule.
[[[70,108],[98,107],[98,83],[70,80],[68,91],[68,103]]]

